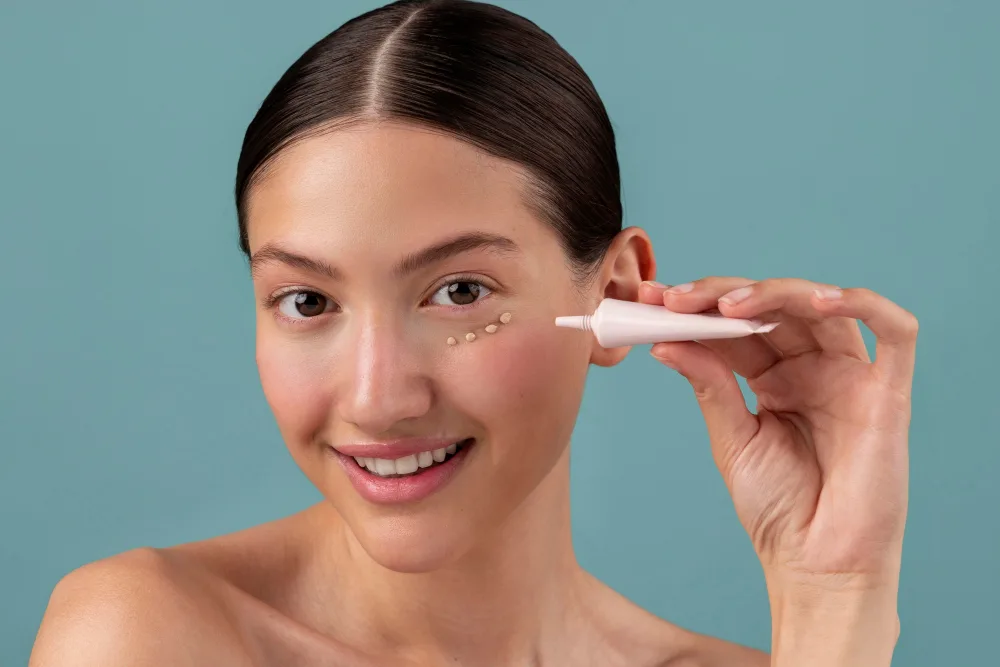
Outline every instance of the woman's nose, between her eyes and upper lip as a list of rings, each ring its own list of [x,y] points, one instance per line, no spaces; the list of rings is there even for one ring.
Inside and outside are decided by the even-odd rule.
[[[402,327],[386,318],[367,316],[355,322],[348,342],[341,417],[361,432],[376,437],[415,420],[431,409],[430,378]]]

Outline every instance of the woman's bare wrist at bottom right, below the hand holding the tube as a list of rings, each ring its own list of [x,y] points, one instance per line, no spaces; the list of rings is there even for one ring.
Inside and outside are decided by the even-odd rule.
[[[889,667],[899,637],[896,583],[809,579],[768,579],[772,667]]]

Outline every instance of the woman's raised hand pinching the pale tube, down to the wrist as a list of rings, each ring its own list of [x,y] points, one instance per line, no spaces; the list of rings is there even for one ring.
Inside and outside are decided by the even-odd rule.
[[[868,290],[805,280],[706,278],[686,287],[644,283],[639,300],[781,322],[760,336],[652,348],[695,390],[713,457],[769,590],[895,591],[916,319]],[[877,338],[874,362],[859,319]],[[756,394],[756,415],[734,372]]]

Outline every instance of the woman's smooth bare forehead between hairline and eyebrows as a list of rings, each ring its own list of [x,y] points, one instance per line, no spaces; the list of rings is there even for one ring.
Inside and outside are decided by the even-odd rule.
[[[354,125],[279,154],[248,199],[251,252],[278,239],[410,246],[465,230],[530,231],[526,192],[523,170],[450,135]]]

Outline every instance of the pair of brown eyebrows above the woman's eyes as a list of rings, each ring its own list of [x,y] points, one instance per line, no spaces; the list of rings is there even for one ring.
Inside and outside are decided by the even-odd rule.
[[[520,252],[517,244],[506,236],[485,232],[469,232],[407,255],[396,264],[392,272],[401,278],[450,257],[480,249],[500,255],[512,255]],[[285,264],[309,273],[325,276],[331,280],[343,279],[343,273],[332,264],[286,250],[276,244],[266,244],[253,254],[250,258],[250,274],[256,276],[265,265],[271,263]]]

